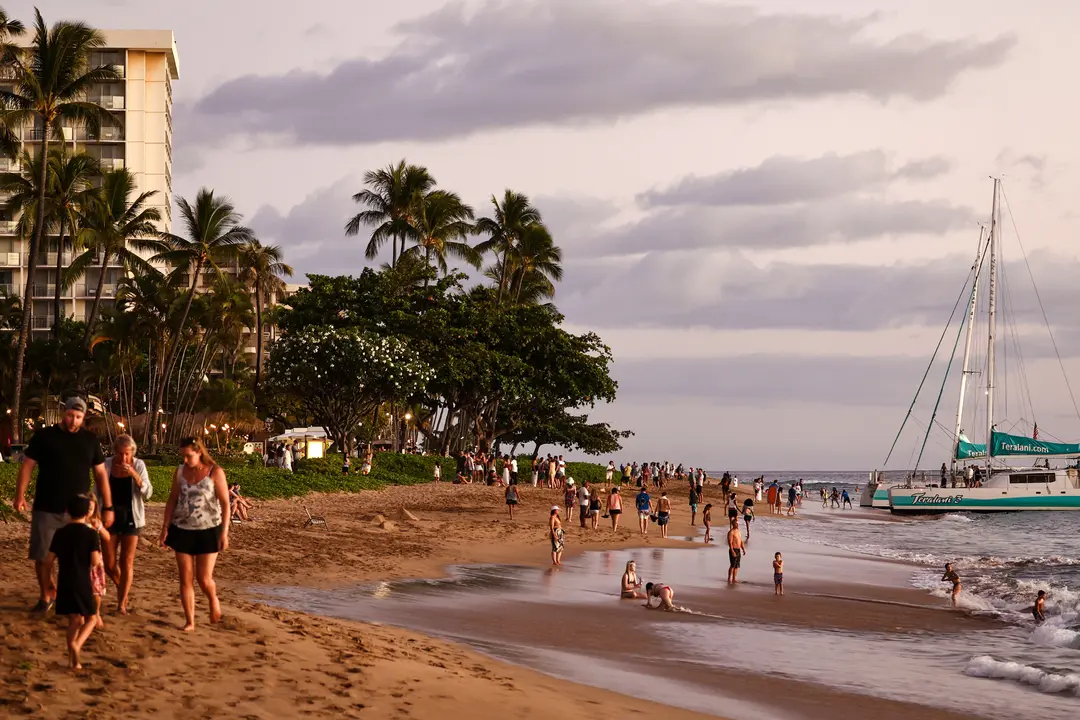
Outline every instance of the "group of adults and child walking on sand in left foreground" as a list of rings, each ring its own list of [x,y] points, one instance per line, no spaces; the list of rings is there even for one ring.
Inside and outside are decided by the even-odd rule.
[[[68,398],[60,422],[33,434],[23,453],[14,497],[15,512],[26,512],[26,492],[37,470],[29,559],[39,597],[30,612],[55,610],[68,616],[68,662],[73,669],[82,667],[86,639],[105,624],[102,603],[108,581],[117,588],[117,612],[131,610],[145,507],[153,495],[146,463],[135,457],[135,440],[117,436],[111,454],[105,457],[97,437],[83,427],[85,415],[85,400]],[[158,542],[176,556],[183,629],[190,631],[195,627],[195,584],[208,601],[210,622],[221,621],[214,566],[218,553],[229,547],[233,512],[246,516],[249,504],[239,486],[227,485],[225,471],[202,440],[185,438],[179,451],[181,462],[168,489]]]

